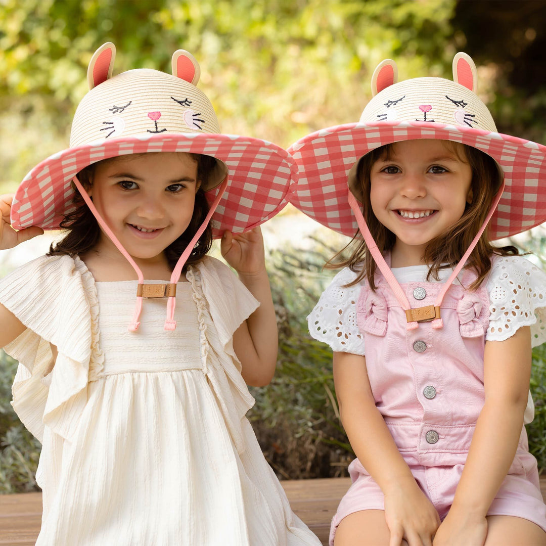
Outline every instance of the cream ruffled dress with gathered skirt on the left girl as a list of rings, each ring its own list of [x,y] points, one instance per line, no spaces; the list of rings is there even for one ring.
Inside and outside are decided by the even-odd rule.
[[[245,417],[254,400],[232,336],[258,302],[213,258],[187,279],[176,330],[163,330],[157,299],[136,333],[136,281],[95,282],[78,257],[41,257],[0,281],[0,302],[28,327],[5,351],[20,361],[15,411],[43,443],[37,545],[320,544]]]

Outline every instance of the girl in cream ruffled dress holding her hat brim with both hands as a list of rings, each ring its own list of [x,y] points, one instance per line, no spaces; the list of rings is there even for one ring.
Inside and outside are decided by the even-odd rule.
[[[112,78],[114,56],[91,60],[69,149],[0,197],[0,248],[67,230],[0,281],[13,406],[43,444],[37,544],[318,546],[245,417],[277,355],[258,226],[294,162],[219,133],[186,51],[172,75]],[[206,256],[222,234],[239,278]]]

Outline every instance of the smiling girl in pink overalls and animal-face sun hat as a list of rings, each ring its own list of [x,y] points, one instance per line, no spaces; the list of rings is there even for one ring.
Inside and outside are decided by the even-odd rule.
[[[490,244],[546,221],[546,147],[496,132],[470,57],[453,74],[397,82],[383,61],[359,123],[289,149],[292,203],[357,231],[308,317],[358,457],[335,546],[546,544],[524,428],[546,275]]]

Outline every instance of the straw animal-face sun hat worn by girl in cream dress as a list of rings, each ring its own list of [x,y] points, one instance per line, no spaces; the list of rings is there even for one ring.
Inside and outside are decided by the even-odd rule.
[[[102,159],[142,152],[189,152],[216,158],[205,187],[209,203],[227,175],[212,216],[215,237],[243,232],[275,216],[297,180],[297,167],[282,148],[246,136],[219,134],[212,104],[195,85],[199,64],[187,51],[172,58],[173,74],[128,70],[112,77],[115,46],[102,45],[87,71],[90,91],[74,115],[70,147],[34,167],[11,206],[15,229],[57,229],[74,209],[72,177]]]

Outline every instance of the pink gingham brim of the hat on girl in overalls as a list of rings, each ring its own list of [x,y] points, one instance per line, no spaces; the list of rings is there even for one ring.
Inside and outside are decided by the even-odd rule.
[[[347,200],[349,170],[379,146],[413,139],[467,144],[501,166],[506,189],[491,218],[491,240],[546,222],[546,146],[487,130],[421,121],[349,123],[296,141],[288,151],[298,164],[299,182],[289,201],[317,222],[352,237],[358,224]]]

